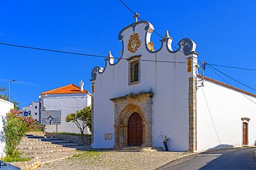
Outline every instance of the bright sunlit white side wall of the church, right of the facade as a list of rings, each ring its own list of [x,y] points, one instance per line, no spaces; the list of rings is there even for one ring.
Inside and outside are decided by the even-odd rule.
[[[212,120],[205,103],[208,102]],[[244,94],[256,103],[256,98]],[[197,98],[197,149],[207,150],[212,147],[231,147],[242,145],[241,118],[250,118],[248,124],[249,145],[253,146],[256,140],[256,105],[243,94],[222,85],[205,81],[205,87],[199,87]],[[214,130],[216,127],[217,133]],[[219,140],[217,138],[219,135]]]

